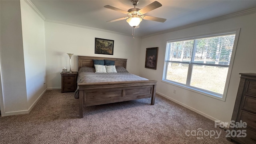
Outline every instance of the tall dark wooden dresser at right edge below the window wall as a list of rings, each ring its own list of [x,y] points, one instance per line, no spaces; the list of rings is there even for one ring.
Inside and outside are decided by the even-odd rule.
[[[256,74],[240,73],[240,83],[232,115],[235,122],[246,122],[246,128],[230,128],[233,130],[246,130],[246,137],[230,137],[228,140],[240,144],[256,144]]]

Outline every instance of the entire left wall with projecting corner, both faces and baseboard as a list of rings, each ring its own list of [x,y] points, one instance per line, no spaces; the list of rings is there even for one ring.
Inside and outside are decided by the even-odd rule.
[[[45,92],[44,21],[23,0],[0,3],[1,114],[26,114]]]

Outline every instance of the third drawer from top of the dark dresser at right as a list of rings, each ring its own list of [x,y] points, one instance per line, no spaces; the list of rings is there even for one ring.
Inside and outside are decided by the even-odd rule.
[[[247,127],[256,129],[256,114],[242,110],[240,120],[242,120],[242,122],[246,122]]]

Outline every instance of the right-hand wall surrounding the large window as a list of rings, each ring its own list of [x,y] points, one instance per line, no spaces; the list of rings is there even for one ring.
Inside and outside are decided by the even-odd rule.
[[[256,73],[255,18],[256,14],[254,13],[174,32],[168,32],[165,34],[159,34],[148,38],[142,38],[139,60],[140,76],[151,80],[158,80],[156,89],[158,94],[161,94],[162,96],[182,104],[183,106],[190,108],[191,110],[194,110],[212,120],[230,122],[234,108],[234,102],[236,100],[238,84],[240,81],[239,73]],[[166,40],[232,30],[237,28],[241,28],[241,30],[225,102],[162,82]],[[159,47],[157,70],[144,68],[146,48],[150,47]],[[173,93],[174,89],[176,89],[176,94]]]

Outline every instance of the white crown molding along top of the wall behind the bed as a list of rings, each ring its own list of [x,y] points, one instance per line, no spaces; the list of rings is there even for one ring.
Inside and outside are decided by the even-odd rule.
[[[86,28],[86,29],[90,29],[90,30],[97,30],[97,31],[101,31],[101,32],[109,32],[109,33],[113,33],[113,34],[119,34],[119,35],[124,35],[124,36],[132,37],[131,34],[124,34],[124,33],[121,33],[121,32],[114,32],[114,31],[104,30],[104,29],[100,29],[100,28],[93,28],[93,27],[89,27],[89,26],[82,26],[82,25],[79,25],[79,24],[72,24],[72,23],[68,23],[68,22],[61,22],[61,21],[50,20],[50,19],[46,19],[44,21],[45,22],[57,23],[57,24],[64,24],[64,25],[68,25],[68,26],[75,26],[75,27],[79,27],[79,28]],[[135,38],[141,38],[140,36],[134,36],[134,37]]]

